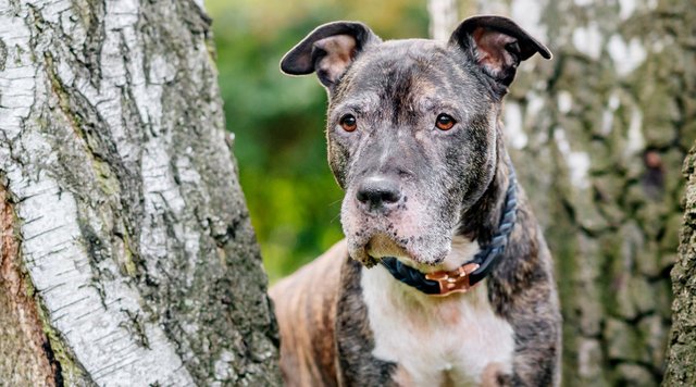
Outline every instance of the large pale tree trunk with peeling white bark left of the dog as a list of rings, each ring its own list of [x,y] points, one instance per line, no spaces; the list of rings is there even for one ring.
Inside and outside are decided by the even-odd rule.
[[[202,1],[0,0],[0,380],[276,385]]]

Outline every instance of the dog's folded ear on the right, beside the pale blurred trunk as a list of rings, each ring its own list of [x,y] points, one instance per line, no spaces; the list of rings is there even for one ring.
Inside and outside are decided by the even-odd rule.
[[[458,45],[488,76],[509,86],[518,65],[536,52],[551,59],[551,52],[513,21],[502,16],[474,16],[452,33],[450,43]]]

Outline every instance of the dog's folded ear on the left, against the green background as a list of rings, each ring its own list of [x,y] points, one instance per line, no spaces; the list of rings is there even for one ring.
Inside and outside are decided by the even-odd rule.
[[[334,22],[321,25],[281,60],[281,70],[290,75],[316,72],[319,80],[333,88],[366,47],[382,42],[364,24]]]

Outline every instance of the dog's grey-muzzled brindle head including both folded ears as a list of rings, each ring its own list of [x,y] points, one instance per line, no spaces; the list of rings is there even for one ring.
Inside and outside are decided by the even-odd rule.
[[[494,178],[500,101],[536,52],[550,58],[509,18],[476,16],[448,42],[383,42],[361,23],[330,23],[285,55],[285,73],[315,72],[328,91],[328,162],[353,259],[447,257]]]

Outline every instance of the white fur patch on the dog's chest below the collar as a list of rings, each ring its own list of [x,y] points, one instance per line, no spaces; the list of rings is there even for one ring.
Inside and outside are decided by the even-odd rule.
[[[485,280],[467,294],[436,298],[376,265],[362,269],[361,286],[375,341],[372,354],[398,364],[401,385],[477,386],[496,372],[512,371],[512,327],[494,313]]]

